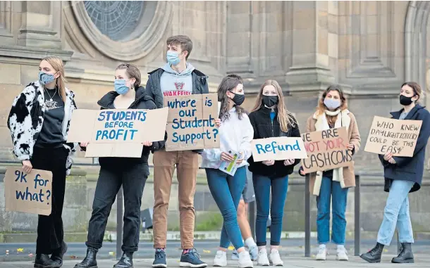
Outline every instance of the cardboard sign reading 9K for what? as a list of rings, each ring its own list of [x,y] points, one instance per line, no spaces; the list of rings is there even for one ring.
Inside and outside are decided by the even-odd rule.
[[[20,211],[39,215],[51,214],[52,172],[22,167],[8,167],[4,176],[6,211]]]

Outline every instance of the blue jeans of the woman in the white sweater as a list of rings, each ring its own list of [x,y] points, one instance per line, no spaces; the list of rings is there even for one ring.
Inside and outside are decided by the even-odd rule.
[[[238,224],[238,205],[247,179],[246,167],[239,167],[234,176],[221,170],[207,168],[206,175],[209,190],[224,219],[219,246],[228,248],[231,241],[235,249],[242,248],[242,234]]]

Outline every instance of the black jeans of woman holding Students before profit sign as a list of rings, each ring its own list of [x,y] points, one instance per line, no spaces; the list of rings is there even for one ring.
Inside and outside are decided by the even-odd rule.
[[[104,231],[112,204],[122,185],[125,210],[123,246],[121,248],[125,252],[137,251],[140,231],[140,205],[147,181],[145,170],[147,170],[147,164],[116,167],[115,169],[101,167],[85,245],[96,249],[102,248]]]

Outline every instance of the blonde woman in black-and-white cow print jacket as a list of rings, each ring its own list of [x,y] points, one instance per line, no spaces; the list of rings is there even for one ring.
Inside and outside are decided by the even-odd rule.
[[[53,176],[51,215],[39,215],[37,225],[35,267],[61,267],[67,250],[61,213],[71,155],[78,143],[66,143],[76,106],[73,92],[64,83],[61,58],[44,58],[39,64],[39,80],[13,100],[8,117],[13,152],[23,162],[23,170],[49,170]]]

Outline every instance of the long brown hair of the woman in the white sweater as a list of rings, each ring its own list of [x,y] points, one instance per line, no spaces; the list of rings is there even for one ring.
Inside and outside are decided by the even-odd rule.
[[[230,98],[227,96],[227,91],[232,91],[238,84],[243,84],[242,77],[239,75],[227,75],[221,81],[218,87],[218,101],[221,102],[221,108],[219,109],[219,119],[226,120],[230,117],[228,113],[228,101]],[[245,109],[235,105],[236,113],[238,113],[239,119],[242,119],[242,114],[245,113]]]

